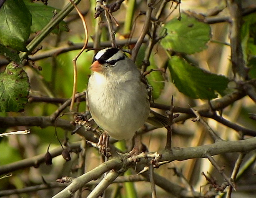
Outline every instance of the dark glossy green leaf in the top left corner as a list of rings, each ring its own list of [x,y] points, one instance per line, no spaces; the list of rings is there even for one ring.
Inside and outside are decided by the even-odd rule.
[[[6,0],[0,9],[0,19],[0,42],[15,50],[28,51],[25,42],[32,20],[23,0]]]

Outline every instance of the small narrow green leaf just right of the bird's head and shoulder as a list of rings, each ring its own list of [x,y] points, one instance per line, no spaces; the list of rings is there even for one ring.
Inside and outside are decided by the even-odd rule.
[[[147,70],[158,69],[153,55],[150,56],[149,61],[150,61],[150,66],[148,66]],[[164,88],[163,75],[161,71],[153,71],[146,77],[147,77],[148,83],[153,87],[153,90],[152,90],[153,98],[157,99]]]

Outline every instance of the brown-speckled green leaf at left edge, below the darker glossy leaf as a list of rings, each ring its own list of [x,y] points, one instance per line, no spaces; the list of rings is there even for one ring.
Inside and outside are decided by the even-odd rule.
[[[30,85],[27,73],[16,63],[10,63],[0,73],[0,112],[22,111],[28,102]]]

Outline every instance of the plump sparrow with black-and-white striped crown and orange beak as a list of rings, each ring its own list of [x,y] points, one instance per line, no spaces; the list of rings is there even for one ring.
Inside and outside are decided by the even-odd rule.
[[[150,114],[149,90],[137,66],[118,48],[95,54],[87,100],[93,120],[116,140],[133,137]]]

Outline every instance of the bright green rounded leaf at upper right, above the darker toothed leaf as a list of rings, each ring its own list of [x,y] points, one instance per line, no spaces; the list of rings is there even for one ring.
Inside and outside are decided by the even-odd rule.
[[[176,52],[200,52],[207,48],[206,43],[211,38],[210,25],[184,13],[181,14],[181,20],[174,18],[164,28],[168,35],[161,40],[161,45]]]

